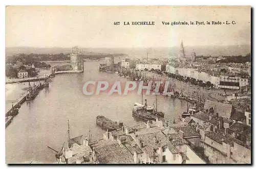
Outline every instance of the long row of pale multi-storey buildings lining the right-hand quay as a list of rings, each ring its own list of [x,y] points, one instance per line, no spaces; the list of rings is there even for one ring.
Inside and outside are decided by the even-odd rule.
[[[203,71],[199,71],[196,68],[175,68],[172,65],[166,65],[166,72],[176,75],[181,75],[183,77],[195,78],[196,80],[201,80],[204,83],[209,81],[214,84],[216,88],[223,89],[240,89],[240,87],[250,84],[250,79],[242,78],[240,76],[233,75],[219,75],[214,76]]]

